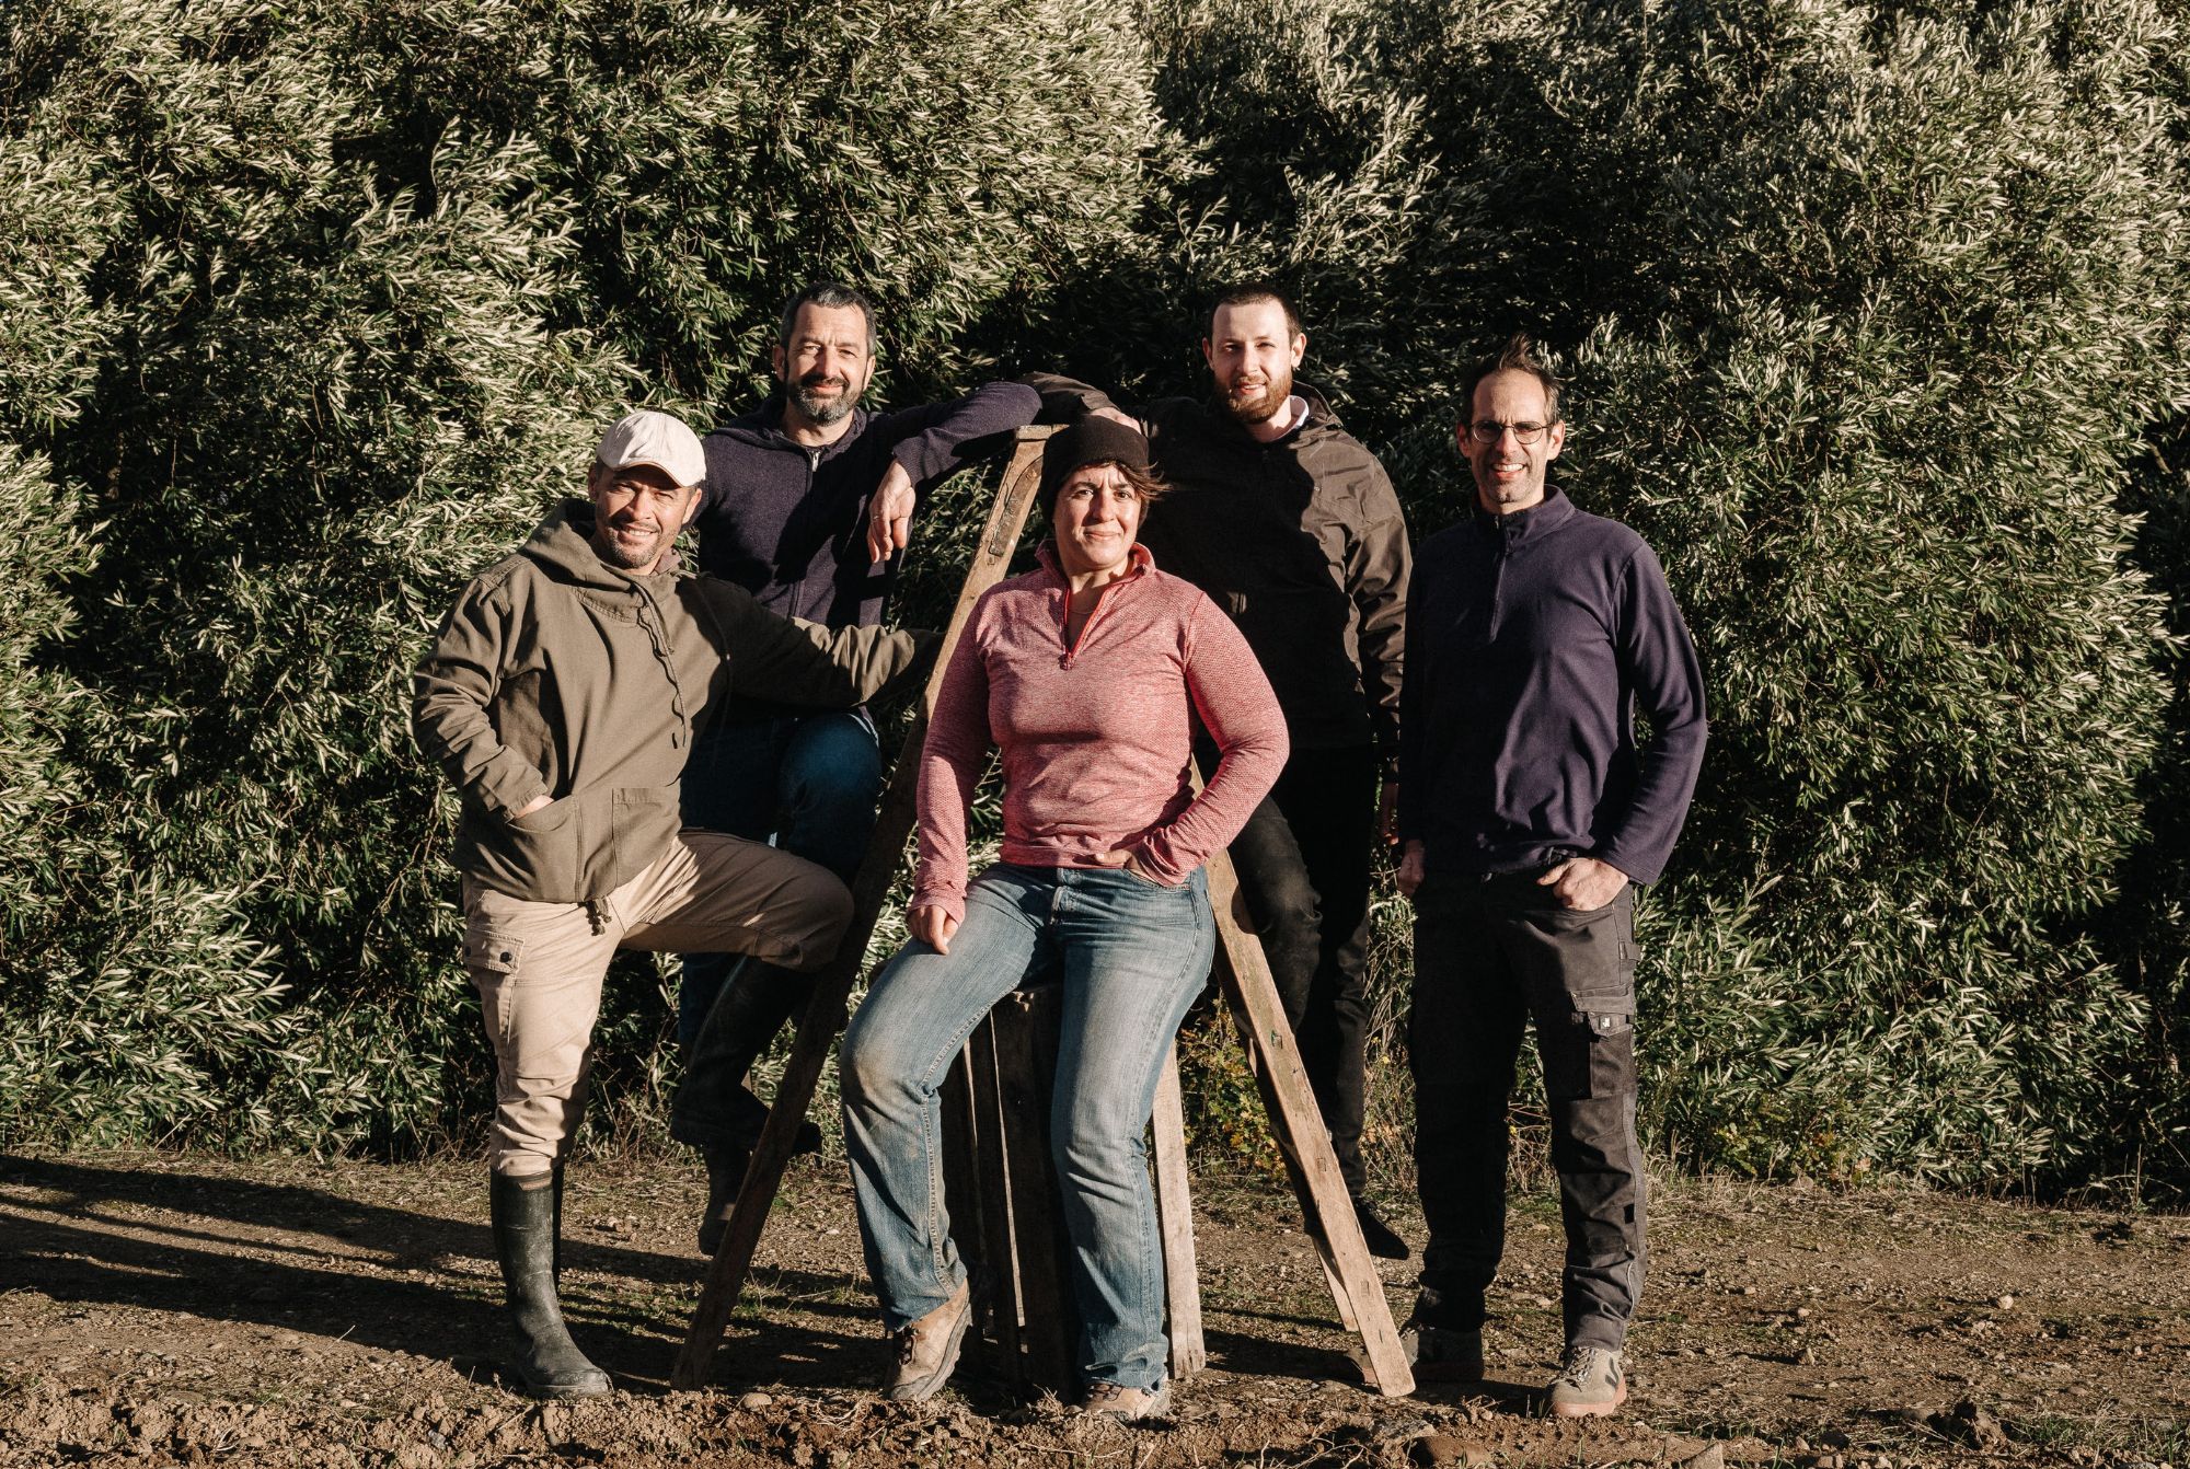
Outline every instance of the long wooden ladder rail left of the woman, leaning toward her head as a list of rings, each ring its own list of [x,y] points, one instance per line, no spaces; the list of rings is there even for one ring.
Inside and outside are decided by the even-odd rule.
[[[707,1263],[707,1279],[701,1287],[699,1305],[692,1309],[692,1325],[685,1331],[683,1346],[677,1351],[677,1368],[670,1373],[670,1384],[681,1390],[707,1386],[714,1370],[714,1351],[723,1342],[731,1311],[738,1309],[745,1276],[753,1265],[753,1250],[760,1248],[760,1230],[769,1222],[769,1208],[775,1206],[775,1193],[784,1184],[784,1169],[791,1165],[799,1123],[806,1121],[806,1108],[812,1106],[815,1088],[821,1084],[821,1066],[837,1042],[837,1031],[843,1029],[845,1003],[852,998],[852,985],[858,983],[867,939],[883,915],[889,884],[898,874],[898,858],[904,854],[904,841],[913,834],[913,819],[918,814],[915,797],[920,790],[920,747],[926,740],[929,716],[933,716],[935,698],[942,692],[944,670],[950,666],[950,650],[957,648],[957,639],[966,631],[972,604],[981,600],[983,591],[1003,580],[1003,571],[1012,563],[1012,550],[1018,545],[1018,532],[1027,523],[1027,510],[1042,477],[1042,440],[1049,433],[1051,429],[1047,427],[1018,431],[1018,444],[1012,451],[1010,466],[1003,471],[1003,486],[996,493],[996,501],[988,510],[981,543],[975,550],[972,565],[966,567],[966,582],[959,589],[957,606],[950,611],[950,626],[935,650],[935,670],[929,674],[926,694],[913,714],[911,727],[904,731],[898,764],[889,775],[889,790],[883,795],[883,806],[876,814],[874,838],[867,843],[867,856],[852,880],[852,924],[845,928],[837,957],[815,976],[812,1000],[799,1020],[799,1033],[791,1044],[791,1060],[784,1064],[784,1075],[775,1084],[775,1106],[769,1108],[769,1121],[753,1145],[753,1156],[745,1167],[745,1182],[738,1187],[738,1202],[729,1211],[729,1226],[723,1230],[723,1244]]]

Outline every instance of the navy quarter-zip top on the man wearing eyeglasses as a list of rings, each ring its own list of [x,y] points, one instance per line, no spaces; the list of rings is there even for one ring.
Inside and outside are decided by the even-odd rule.
[[[1656,882],[1702,762],[1695,644],[1642,536],[1548,488],[1419,547],[1399,838],[1424,843],[1426,871],[1520,871],[1579,852]]]

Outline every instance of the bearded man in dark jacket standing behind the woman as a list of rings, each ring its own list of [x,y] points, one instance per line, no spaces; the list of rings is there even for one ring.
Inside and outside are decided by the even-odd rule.
[[[1292,377],[1305,350],[1292,302],[1250,282],[1209,313],[1211,396],[1159,398],[1128,418],[1086,383],[1027,381],[1045,416],[1102,414],[1148,433],[1169,490],[1141,543],[1240,624],[1286,712],[1292,757],[1231,858],[1362,1239],[1406,1259],[1364,1198],[1360,1138],[1369,878],[1391,828],[1408,541],[1384,466]]]

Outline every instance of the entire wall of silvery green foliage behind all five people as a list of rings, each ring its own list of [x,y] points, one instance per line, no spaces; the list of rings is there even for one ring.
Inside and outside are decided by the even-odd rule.
[[[1688,609],[1715,736],[1642,906],[1662,1147],[2190,1178],[2181,31],[2179,0],[22,0],[0,1132],[477,1112],[405,670],[607,418],[749,405],[793,287],[878,296],[883,398],[1023,366],[1139,396],[1200,392],[1209,289],[1270,276],[1417,534],[1469,504],[1465,363],[1537,335],[1564,484]],[[981,510],[933,497],[909,620]],[[600,1075],[661,1075],[661,1029],[611,987]]]

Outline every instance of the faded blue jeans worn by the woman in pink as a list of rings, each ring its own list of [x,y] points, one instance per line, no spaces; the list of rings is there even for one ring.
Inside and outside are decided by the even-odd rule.
[[[966,893],[950,952],[907,944],[843,1036],[843,1136],[883,1322],[900,1331],[966,1270],[942,1198],[937,1090],[988,1009],[1062,972],[1064,1029],[1049,1149],[1064,1195],[1080,1375],[1165,1377],[1163,1239],[1148,1184],[1148,1114],[1163,1053],[1215,955],[1202,874],[1161,887],[1123,869],[999,863]]]

